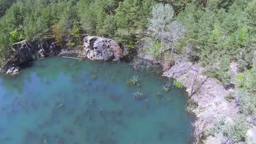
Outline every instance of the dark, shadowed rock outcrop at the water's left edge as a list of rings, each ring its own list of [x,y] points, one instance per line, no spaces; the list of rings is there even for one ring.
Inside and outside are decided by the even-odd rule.
[[[12,45],[11,55],[0,71],[7,75],[16,75],[20,68],[33,59],[42,59],[59,53],[60,48],[54,43],[53,38],[39,41],[23,40]]]

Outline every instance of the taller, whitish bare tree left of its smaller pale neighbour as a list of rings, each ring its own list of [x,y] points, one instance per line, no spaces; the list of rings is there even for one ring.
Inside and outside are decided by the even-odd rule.
[[[173,18],[173,8],[169,4],[157,3],[152,8],[152,19],[149,21],[149,31],[152,38],[161,43],[160,53],[162,52],[165,39],[165,30]]]

